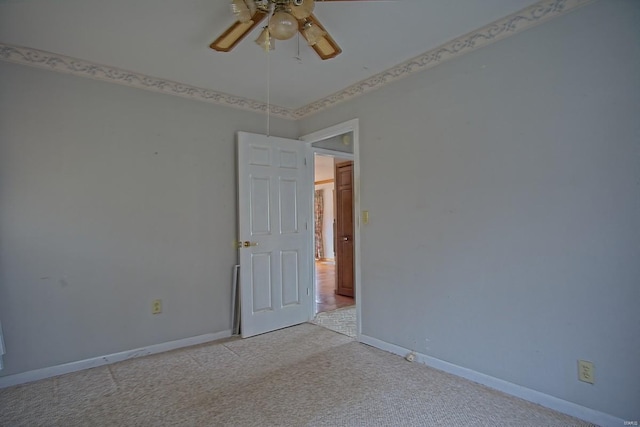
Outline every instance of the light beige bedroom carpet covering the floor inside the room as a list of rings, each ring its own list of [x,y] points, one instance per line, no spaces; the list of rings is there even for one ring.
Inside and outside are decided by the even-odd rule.
[[[586,426],[309,323],[0,390],[2,426]]]

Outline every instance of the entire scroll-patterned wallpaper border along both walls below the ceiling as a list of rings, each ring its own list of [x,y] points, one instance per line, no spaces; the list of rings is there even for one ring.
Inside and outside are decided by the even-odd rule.
[[[499,19],[462,37],[458,37],[435,49],[298,109],[292,110],[277,105],[270,105],[270,114],[289,120],[297,120],[311,116],[312,114],[333,107],[336,104],[364,95],[365,93],[379,89],[388,83],[414,73],[428,70],[449,59],[487,46],[594,1],[596,0],[542,0],[528,8]],[[168,95],[181,96],[197,101],[239,108],[256,113],[264,114],[267,111],[267,104],[264,102],[28,47],[0,43],[0,60],[117,83],[138,89],[151,90]]]

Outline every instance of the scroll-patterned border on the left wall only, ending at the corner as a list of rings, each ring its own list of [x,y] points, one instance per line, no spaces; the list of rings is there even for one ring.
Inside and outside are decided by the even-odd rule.
[[[0,43],[0,59],[255,113],[266,114],[267,112],[267,104],[264,102],[29,47]],[[293,111],[285,107],[269,105],[269,111],[272,116],[295,119]]]

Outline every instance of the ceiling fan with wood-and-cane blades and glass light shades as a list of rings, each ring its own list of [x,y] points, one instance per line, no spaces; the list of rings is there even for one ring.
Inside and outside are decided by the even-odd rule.
[[[321,59],[335,58],[342,49],[313,15],[315,3],[316,0],[232,0],[231,11],[235,14],[237,21],[209,47],[219,52],[231,51],[268,17],[267,26],[256,39],[256,43],[265,50],[274,49],[274,39],[287,40],[300,32]]]

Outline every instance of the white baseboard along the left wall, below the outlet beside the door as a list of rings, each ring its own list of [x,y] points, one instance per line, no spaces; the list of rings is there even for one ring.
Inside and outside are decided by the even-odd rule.
[[[51,378],[58,375],[68,374],[70,372],[81,371],[83,369],[95,368],[97,366],[110,365],[112,363],[121,362],[123,360],[134,359],[136,357],[148,356],[150,354],[163,353],[169,350],[175,350],[182,347],[203,344],[206,342],[216,341],[231,336],[231,331],[216,332],[213,334],[198,335],[196,337],[184,338],[176,341],[169,341],[161,344],[154,344],[148,347],[142,347],[135,350],[127,350],[119,353],[108,354],[105,356],[92,357],[91,359],[79,360],[77,362],[65,363],[63,365],[50,366],[48,368],[35,369],[33,371],[23,372],[20,374],[7,375],[0,377],[0,389],[11,387],[18,384],[24,384],[31,381]]]

